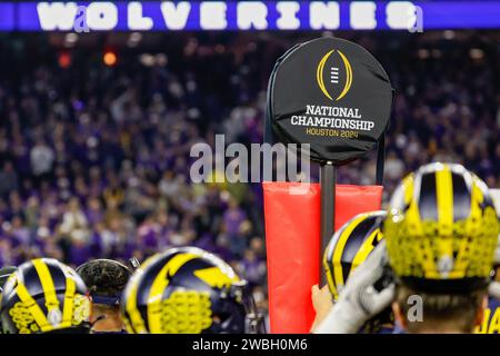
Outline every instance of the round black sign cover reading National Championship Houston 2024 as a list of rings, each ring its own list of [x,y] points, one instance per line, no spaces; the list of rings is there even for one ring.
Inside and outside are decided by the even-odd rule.
[[[341,165],[373,149],[388,127],[393,89],[367,50],[337,38],[281,57],[268,91],[268,125],[284,144],[309,144],[311,159]]]

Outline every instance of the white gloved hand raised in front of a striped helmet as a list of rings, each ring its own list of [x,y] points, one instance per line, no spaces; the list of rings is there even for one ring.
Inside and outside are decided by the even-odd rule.
[[[312,333],[358,333],[364,323],[389,307],[394,297],[394,285],[391,284],[380,291],[373,287],[382,277],[387,264],[386,241],[382,240],[367,260],[349,276],[340,291],[339,300]]]

